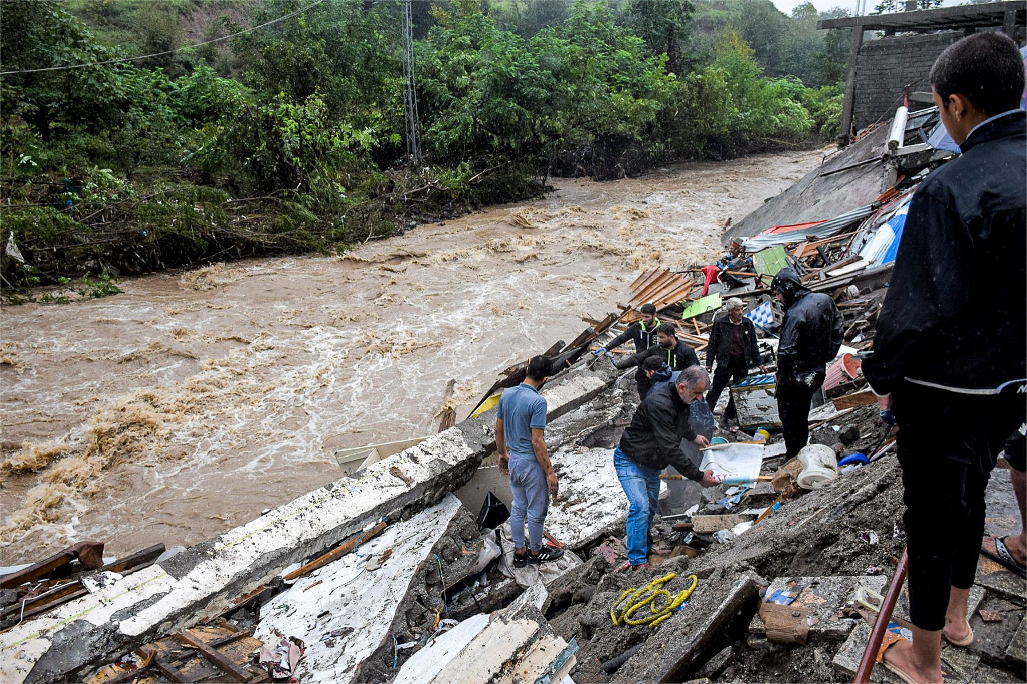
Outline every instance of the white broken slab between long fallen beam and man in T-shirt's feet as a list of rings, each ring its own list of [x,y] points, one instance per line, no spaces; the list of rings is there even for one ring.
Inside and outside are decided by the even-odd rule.
[[[387,527],[358,554],[300,577],[262,609],[266,616],[254,636],[265,643],[277,641],[276,633],[301,639],[306,644],[298,671],[303,681],[353,681],[389,635],[407,632],[397,611],[418,569],[434,563],[436,545],[462,511],[459,499],[447,494],[435,506]],[[391,554],[381,567],[368,570],[369,558],[387,550]],[[403,625],[394,629],[397,617]],[[336,631],[349,632],[322,640]]]

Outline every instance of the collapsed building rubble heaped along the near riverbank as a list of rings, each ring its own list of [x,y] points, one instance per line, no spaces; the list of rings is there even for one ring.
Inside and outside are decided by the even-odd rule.
[[[340,452],[338,481],[200,545],[105,564],[102,545],[83,542],[0,577],[0,677],[850,681],[904,546],[895,438],[877,420],[859,352],[873,341],[909,200],[954,154],[938,127],[937,112],[900,109],[735,224],[717,264],[641,274],[619,311],[585,317],[581,335],[549,348],[561,370],[542,395],[561,493],[546,532],[568,552],[560,562],[511,562],[492,409],[523,378],[520,364],[466,420],[444,416],[425,439]],[[627,500],[611,450],[638,399],[631,372],[588,352],[646,301],[700,355],[723,297],[747,299],[747,315],[772,330],[781,311],[768,283],[785,266],[845,317],[845,346],[810,413],[811,442],[829,461],[813,479],[808,465],[785,462],[772,376],[732,388],[743,431],[694,455],[745,470],[750,483],[669,483],[656,567],[618,571]],[[771,356],[772,334],[761,345]],[[1017,524],[1009,489],[996,471],[991,531]],[[1023,681],[1025,589],[981,559],[978,640],[943,651],[951,681]],[[897,633],[907,611],[900,598]],[[881,668],[872,679],[891,681]]]

